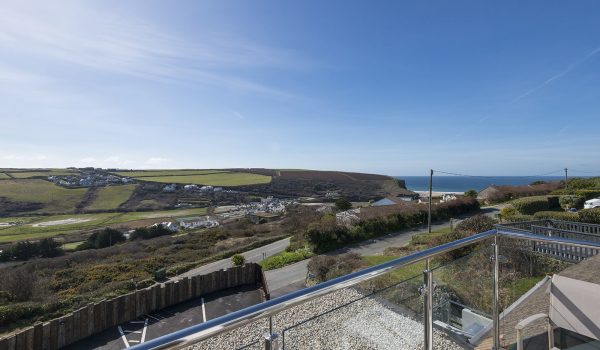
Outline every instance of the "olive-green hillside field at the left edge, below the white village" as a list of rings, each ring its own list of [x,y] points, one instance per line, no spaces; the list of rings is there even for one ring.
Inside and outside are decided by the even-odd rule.
[[[0,197],[15,202],[42,203],[46,213],[73,211],[87,192],[85,188],[66,189],[45,180],[0,181]]]

